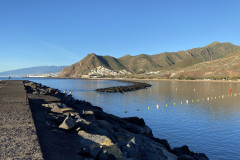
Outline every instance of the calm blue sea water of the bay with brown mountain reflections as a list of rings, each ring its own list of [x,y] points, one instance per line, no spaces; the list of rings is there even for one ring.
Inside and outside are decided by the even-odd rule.
[[[188,145],[213,160],[240,159],[240,84],[145,81],[153,86],[127,93],[97,93],[97,88],[128,84],[111,80],[29,80],[72,90],[75,98],[119,117],[142,117],[154,136],[167,139],[172,147]]]

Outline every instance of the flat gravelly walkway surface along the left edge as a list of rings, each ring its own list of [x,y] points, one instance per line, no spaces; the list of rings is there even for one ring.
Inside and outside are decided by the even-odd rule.
[[[43,159],[22,81],[0,83],[0,159]]]

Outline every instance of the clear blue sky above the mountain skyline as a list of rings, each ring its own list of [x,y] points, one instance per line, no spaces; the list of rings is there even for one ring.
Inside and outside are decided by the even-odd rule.
[[[240,45],[239,0],[0,0],[0,72]]]

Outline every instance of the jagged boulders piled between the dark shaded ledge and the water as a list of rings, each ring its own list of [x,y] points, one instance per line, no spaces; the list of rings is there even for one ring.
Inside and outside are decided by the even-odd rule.
[[[61,100],[42,107],[55,128],[76,138],[77,145],[72,148],[77,150],[78,159],[208,160],[205,154],[191,152],[187,146],[172,149],[166,140],[153,136],[143,119],[107,114],[89,102],[41,84],[25,81],[25,86],[29,93],[45,93]]]

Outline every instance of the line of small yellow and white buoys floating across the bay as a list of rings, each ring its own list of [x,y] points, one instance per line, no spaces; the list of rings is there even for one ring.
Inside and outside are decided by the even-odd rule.
[[[176,88],[177,90],[177,88]],[[194,89],[195,91],[195,89]],[[231,93],[231,91],[230,91]],[[218,96],[212,96],[212,97],[206,97],[206,98],[198,98],[198,99],[192,99],[192,100],[182,100],[182,101],[179,101],[179,103],[177,102],[173,102],[172,105],[173,106],[176,106],[177,104],[179,105],[184,105],[184,104],[194,104],[194,103],[199,103],[199,102],[208,102],[208,101],[213,101],[213,100],[217,100],[217,99],[224,99],[224,98],[230,98],[230,97],[236,97],[236,96],[240,96],[240,93],[231,93],[231,94],[222,94],[222,95],[218,95]],[[185,102],[185,103],[184,103]],[[153,108],[156,108],[156,109],[159,109],[160,107],[168,107],[168,106],[171,106],[171,104],[169,105],[170,103],[167,103],[166,105],[156,105],[156,107],[153,107]],[[147,107],[148,110],[150,110],[150,106]],[[140,109],[138,108],[137,111],[140,111]],[[125,111],[125,113],[128,113],[128,111]]]

